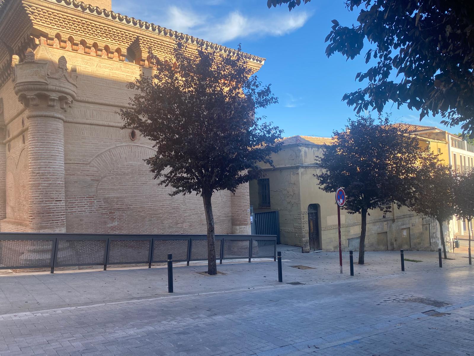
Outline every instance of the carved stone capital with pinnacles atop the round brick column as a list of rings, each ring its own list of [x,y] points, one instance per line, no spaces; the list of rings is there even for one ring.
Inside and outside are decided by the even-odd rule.
[[[65,112],[73,105],[77,92],[77,71],[73,67],[68,73],[64,56],[59,58],[57,66],[51,68],[50,63],[37,61],[35,53],[28,49],[24,62],[18,63],[18,58],[13,58],[12,62],[15,94],[27,109]]]

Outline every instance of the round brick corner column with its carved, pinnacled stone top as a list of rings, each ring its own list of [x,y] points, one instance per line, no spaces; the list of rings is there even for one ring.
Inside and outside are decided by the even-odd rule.
[[[31,49],[23,63],[15,64],[15,93],[27,109],[28,223],[36,233],[66,232],[64,112],[77,89],[76,71],[69,74],[66,64],[64,57],[57,67],[36,60]]]

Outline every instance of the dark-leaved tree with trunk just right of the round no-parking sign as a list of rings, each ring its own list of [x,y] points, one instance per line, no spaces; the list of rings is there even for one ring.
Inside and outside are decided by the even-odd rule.
[[[392,203],[400,207],[410,200],[421,158],[418,139],[388,117],[376,122],[370,115],[349,120],[346,131],[334,131],[333,138],[334,144],[325,145],[316,159],[322,168],[316,177],[326,192],[343,187],[342,209],[362,215],[359,263],[364,264],[366,215],[371,209],[389,212]]]

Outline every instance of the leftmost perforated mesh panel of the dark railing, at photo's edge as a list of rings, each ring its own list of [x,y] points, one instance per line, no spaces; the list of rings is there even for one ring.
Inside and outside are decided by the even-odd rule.
[[[53,244],[53,240],[1,240],[0,267],[48,267]]]

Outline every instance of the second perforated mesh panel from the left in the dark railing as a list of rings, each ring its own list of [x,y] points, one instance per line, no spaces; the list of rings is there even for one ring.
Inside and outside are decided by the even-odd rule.
[[[104,264],[107,240],[59,240],[56,266]]]

